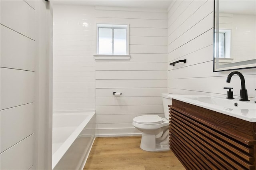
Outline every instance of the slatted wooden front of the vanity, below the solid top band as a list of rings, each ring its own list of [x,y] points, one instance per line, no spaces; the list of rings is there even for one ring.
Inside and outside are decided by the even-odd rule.
[[[254,140],[244,144],[174,103],[169,112],[170,148],[186,168],[254,169]]]

